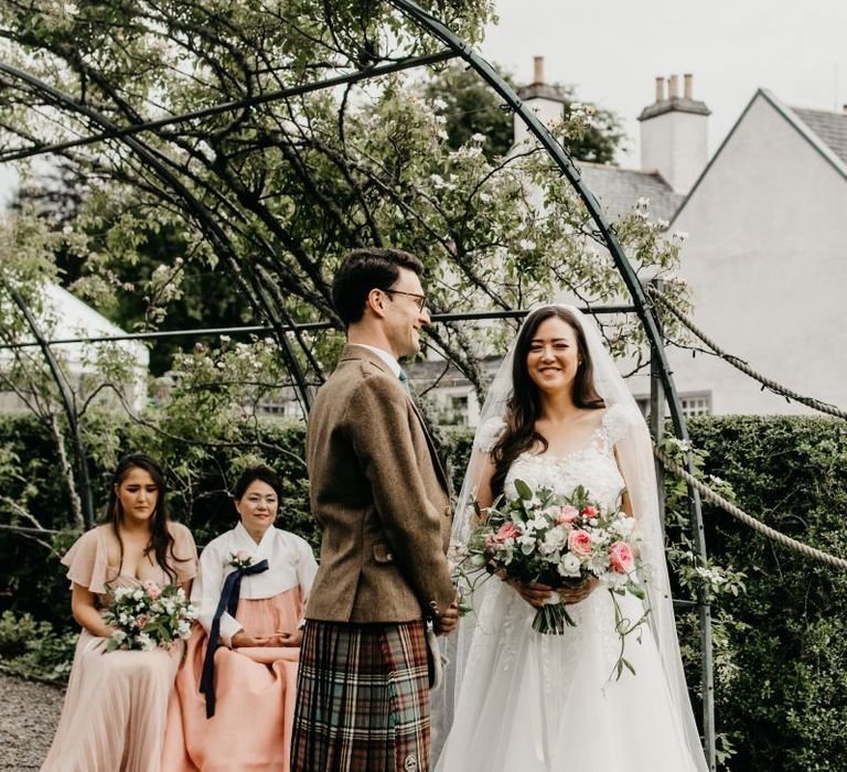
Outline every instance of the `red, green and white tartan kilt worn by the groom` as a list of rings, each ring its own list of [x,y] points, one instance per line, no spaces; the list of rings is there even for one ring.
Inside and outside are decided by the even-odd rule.
[[[300,650],[291,772],[427,772],[422,620],[309,620]]]

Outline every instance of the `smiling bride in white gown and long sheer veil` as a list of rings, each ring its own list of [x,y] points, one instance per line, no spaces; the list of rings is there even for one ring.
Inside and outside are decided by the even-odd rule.
[[[637,521],[648,600],[619,597],[637,620],[628,635],[635,675],[613,672],[620,637],[609,591],[596,579],[573,589],[491,577],[475,586],[473,612],[433,697],[438,772],[705,772],[683,674],[658,521],[646,426],[593,325],[576,309],[527,317],[483,408],[453,537],[468,540],[475,495],[484,510],[515,480],[568,495],[577,485]],[[532,629],[558,592],[576,626]],[[452,643],[450,644],[452,645]]]

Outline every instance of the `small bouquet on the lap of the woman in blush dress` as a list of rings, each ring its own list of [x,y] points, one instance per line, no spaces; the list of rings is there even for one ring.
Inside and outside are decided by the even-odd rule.
[[[117,629],[106,644],[107,652],[168,648],[191,635],[191,623],[197,618],[196,609],[176,585],[161,588],[148,580],[141,587],[118,587],[112,598],[104,620]]]

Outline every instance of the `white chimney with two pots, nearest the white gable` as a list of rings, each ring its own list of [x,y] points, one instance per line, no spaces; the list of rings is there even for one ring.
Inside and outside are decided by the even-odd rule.
[[[711,110],[694,98],[694,78],[667,79],[667,97],[663,78],[656,78],[656,100],[645,107],[641,121],[641,168],[658,172],[677,193],[687,193],[708,160],[707,124]]]

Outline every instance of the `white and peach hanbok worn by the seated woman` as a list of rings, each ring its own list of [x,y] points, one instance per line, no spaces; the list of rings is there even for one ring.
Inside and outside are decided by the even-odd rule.
[[[299,648],[222,645],[215,652],[216,705],[211,718],[200,693],[207,630],[232,570],[227,558],[235,551],[248,553],[255,562],[267,559],[269,569],[243,579],[235,616],[222,620],[227,643],[240,629],[253,636],[294,631],[318,568],[309,545],[278,528],[269,528],[256,545],[239,524],[203,550],[192,592],[202,625],[196,625],[176,674],[162,757],[167,772],[289,770]]]

